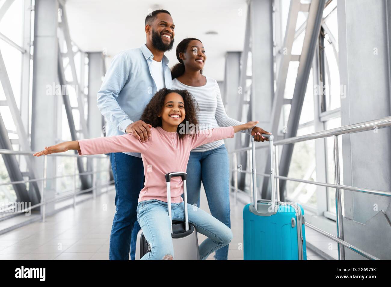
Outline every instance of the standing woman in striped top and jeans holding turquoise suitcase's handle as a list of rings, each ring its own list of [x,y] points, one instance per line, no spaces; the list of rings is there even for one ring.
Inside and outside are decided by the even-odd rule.
[[[203,44],[199,39],[183,39],[176,47],[179,61],[171,69],[172,89],[186,89],[199,106],[198,122],[201,127],[229,127],[243,123],[227,116],[216,80],[202,75],[206,61]],[[264,141],[262,128],[242,130],[255,135],[255,141]],[[212,215],[231,228],[230,220],[230,162],[223,140],[203,144],[190,153],[187,165],[188,203],[199,207],[201,181]],[[227,260],[228,245],[216,250],[216,260]]]

